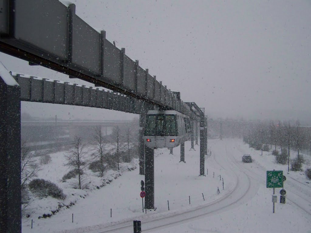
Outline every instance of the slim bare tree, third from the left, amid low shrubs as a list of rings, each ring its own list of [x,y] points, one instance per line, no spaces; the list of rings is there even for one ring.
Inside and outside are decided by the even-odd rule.
[[[107,143],[104,141],[104,137],[101,131],[101,126],[96,126],[94,129],[94,147],[95,147],[95,158],[98,158],[100,176],[104,176],[104,156]]]

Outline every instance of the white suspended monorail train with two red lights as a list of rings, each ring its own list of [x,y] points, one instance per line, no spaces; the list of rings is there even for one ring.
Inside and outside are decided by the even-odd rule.
[[[191,137],[190,118],[173,110],[150,110],[146,115],[145,144],[151,148],[173,148]]]

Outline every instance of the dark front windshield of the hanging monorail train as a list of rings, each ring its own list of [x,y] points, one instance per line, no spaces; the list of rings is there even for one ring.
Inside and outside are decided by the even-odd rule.
[[[177,136],[176,116],[157,114],[147,115],[145,136]]]

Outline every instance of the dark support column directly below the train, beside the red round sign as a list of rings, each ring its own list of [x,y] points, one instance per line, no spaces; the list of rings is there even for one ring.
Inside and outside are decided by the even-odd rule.
[[[145,208],[154,209],[155,189],[154,189],[154,149],[146,147],[145,155]]]

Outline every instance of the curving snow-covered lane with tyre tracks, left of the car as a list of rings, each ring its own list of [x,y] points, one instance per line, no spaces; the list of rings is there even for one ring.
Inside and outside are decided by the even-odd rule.
[[[245,173],[232,156],[228,156],[226,148],[223,151],[213,153],[213,159],[226,171],[235,177],[234,188],[231,193],[223,196],[217,201],[205,204],[194,210],[180,213],[174,216],[165,216],[152,219],[142,223],[143,232],[161,231],[167,226],[174,226],[180,223],[190,222],[194,219],[205,218],[210,215],[220,213],[222,211],[238,207],[245,201],[250,200],[258,191],[258,182],[251,180],[249,175]],[[125,233],[132,230],[133,222],[126,222],[116,226],[106,227],[104,231],[91,231],[92,233],[118,232]]]

